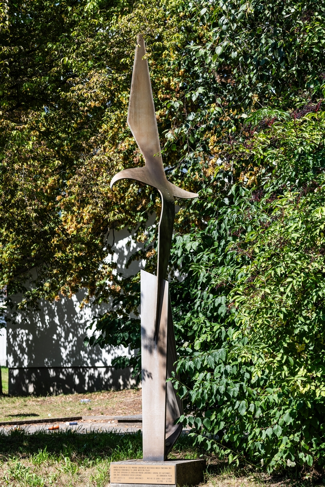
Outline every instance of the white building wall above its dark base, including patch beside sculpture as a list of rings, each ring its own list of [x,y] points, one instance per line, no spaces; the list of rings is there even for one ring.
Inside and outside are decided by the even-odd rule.
[[[114,262],[116,262],[116,272],[122,272],[127,276],[143,267],[144,262],[134,261],[131,263],[130,268],[125,269],[125,264],[131,254],[139,249],[141,245],[134,244],[131,241],[130,233],[126,229],[115,232],[115,236],[111,232],[108,243],[113,244],[113,240],[115,255],[113,257],[109,255],[107,259],[109,261],[113,258]],[[93,368],[94,370],[98,367],[107,368],[111,366],[112,359],[116,356],[130,355],[132,353],[131,350],[123,347],[114,348],[107,346],[101,349],[98,345],[95,348],[84,346],[84,337],[86,334],[92,334],[90,330],[86,332],[87,326],[96,315],[99,313],[103,314],[109,309],[108,304],[101,306],[86,305],[80,309],[79,305],[85,294],[86,292],[81,290],[72,299],[62,297],[61,300],[56,302],[42,300],[40,302],[40,311],[38,312],[28,314],[19,312],[16,316],[8,312],[7,363],[9,367],[9,393],[10,384],[11,382],[14,384],[15,381],[26,382],[23,391],[19,390],[19,393],[24,393],[24,391],[33,393],[36,391],[33,385],[28,384],[28,381],[31,380],[28,377],[37,377],[34,372],[31,375],[31,370],[35,371],[42,368],[60,368],[61,370],[62,368],[76,367]],[[16,300],[19,300],[19,296],[16,297]],[[12,369],[12,373],[10,369]],[[25,372],[27,369],[29,370],[28,377],[25,372],[26,376],[22,377],[21,370],[23,369]],[[43,376],[44,371],[39,372],[39,374]],[[33,380],[38,379],[35,378]],[[121,384],[122,382],[120,381]],[[134,379],[131,380],[130,384],[132,385],[133,383]],[[12,388],[12,393],[14,393],[14,385],[12,385]]]

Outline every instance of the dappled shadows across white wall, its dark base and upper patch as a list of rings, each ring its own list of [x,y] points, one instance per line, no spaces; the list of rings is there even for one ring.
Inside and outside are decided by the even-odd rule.
[[[154,215],[152,216],[154,221]],[[125,264],[142,244],[134,242],[127,229],[113,231],[107,238],[115,254],[107,261],[116,263],[116,272],[124,276],[136,273],[143,261],[134,261],[128,269]],[[35,271],[33,271],[35,272]],[[130,369],[115,371],[110,367],[116,356],[131,356],[124,347],[107,346],[101,349],[84,346],[83,340],[91,330],[86,330],[98,314],[110,309],[110,304],[100,306],[79,305],[86,296],[80,290],[71,299],[49,302],[41,300],[38,312],[7,313],[7,363],[9,367],[9,393],[57,394],[103,389],[123,389],[135,384]],[[13,296],[19,302],[22,296]]]

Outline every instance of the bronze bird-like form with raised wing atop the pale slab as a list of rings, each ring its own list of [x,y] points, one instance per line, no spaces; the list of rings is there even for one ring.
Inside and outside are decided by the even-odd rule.
[[[153,104],[153,93],[143,37],[139,34],[135,48],[129,101],[128,124],[145,159],[143,168],[124,169],[111,181],[111,187],[120,179],[134,179],[158,189],[161,200],[161,216],[158,230],[157,263],[157,313],[156,335],[159,332],[161,308],[161,282],[166,279],[169,254],[172,245],[172,228],[175,216],[174,196],[196,198],[198,194],[174,186],[167,181],[160,151],[159,134]]]

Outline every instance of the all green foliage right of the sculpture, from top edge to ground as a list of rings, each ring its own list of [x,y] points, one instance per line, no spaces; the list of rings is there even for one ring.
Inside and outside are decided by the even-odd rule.
[[[230,462],[323,465],[324,9],[191,9],[206,27],[188,65],[209,218],[173,247],[184,421]]]

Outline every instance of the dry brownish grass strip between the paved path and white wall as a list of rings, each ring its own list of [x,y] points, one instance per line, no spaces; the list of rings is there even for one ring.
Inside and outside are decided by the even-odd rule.
[[[1,370],[2,372],[2,370]],[[90,399],[81,404],[81,399]],[[47,397],[0,396],[0,421],[67,416],[109,416],[141,414],[141,389],[102,391],[97,393],[67,394]]]

